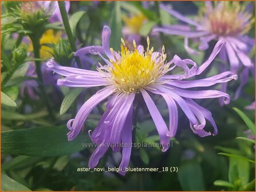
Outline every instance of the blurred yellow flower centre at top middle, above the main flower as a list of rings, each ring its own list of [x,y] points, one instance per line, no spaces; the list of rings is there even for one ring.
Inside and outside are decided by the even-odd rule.
[[[133,15],[132,17],[124,17],[125,25],[129,28],[131,33],[138,34],[141,26],[146,21],[146,17],[143,14]]]

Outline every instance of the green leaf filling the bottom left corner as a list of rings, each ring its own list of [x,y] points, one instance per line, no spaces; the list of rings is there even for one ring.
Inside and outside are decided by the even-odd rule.
[[[1,190],[2,191],[31,191],[29,188],[14,181],[10,177],[1,173]]]

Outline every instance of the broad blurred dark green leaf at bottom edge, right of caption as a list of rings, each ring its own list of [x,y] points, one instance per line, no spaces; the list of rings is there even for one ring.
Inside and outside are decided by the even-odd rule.
[[[179,167],[178,179],[184,191],[204,191],[202,168],[196,161],[183,163]]]

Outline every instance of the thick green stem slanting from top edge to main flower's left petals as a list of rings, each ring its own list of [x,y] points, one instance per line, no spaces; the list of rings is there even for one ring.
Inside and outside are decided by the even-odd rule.
[[[76,48],[76,42],[74,41],[74,37],[72,34],[71,27],[69,25],[69,19],[68,19],[68,13],[66,13],[66,7],[65,7],[65,2],[64,1],[58,1],[58,6],[60,7],[60,12],[61,12],[61,18],[64,23],[66,35],[68,36],[70,47],[73,52],[77,51]],[[82,69],[81,61],[78,57],[74,57],[76,60],[76,63],[80,69]]]

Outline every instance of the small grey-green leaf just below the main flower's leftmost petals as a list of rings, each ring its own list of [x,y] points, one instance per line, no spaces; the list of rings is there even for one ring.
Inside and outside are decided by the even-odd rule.
[[[61,109],[60,109],[60,114],[63,115],[68,111],[69,107],[72,105],[74,100],[78,97],[78,95],[82,92],[83,89],[78,88],[78,89],[72,89],[69,91],[69,93],[65,96],[61,103]]]

